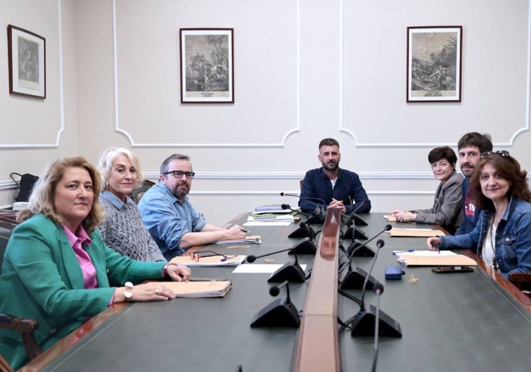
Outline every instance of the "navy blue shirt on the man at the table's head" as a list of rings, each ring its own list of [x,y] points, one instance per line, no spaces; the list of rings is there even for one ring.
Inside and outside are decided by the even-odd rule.
[[[371,211],[371,200],[368,199],[358,175],[341,168],[339,168],[334,189],[332,189],[329,178],[324,174],[323,168],[308,170],[300,196],[299,207],[303,212],[314,212],[319,205],[322,206],[322,202],[305,199],[305,197],[322,199],[326,206],[332,202],[332,198],[341,200],[346,208],[346,214],[352,211],[356,213]]]

